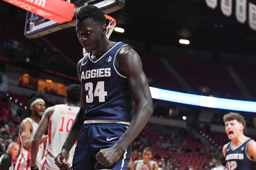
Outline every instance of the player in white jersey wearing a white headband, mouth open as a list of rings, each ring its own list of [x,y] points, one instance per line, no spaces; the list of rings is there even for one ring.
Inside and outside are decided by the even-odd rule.
[[[45,102],[40,98],[32,98],[27,105],[26,116],[20,123],[19,144],[20,155],[15,165],[15,170],[30,170],[30,148],[35,135],[38,123],[40,122],[45,110]],[[40,139],[36,165],[41,167],[41,160],[44,152],[44,142],[47,135]]]

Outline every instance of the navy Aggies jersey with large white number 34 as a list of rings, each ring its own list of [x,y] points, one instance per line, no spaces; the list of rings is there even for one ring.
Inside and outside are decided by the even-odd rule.
[[[127,45],[117,42],[96,61],[92,60],[91,53],[82,59],[80,76],[86,94],[85,120],[131,121],[134,101],[127,77],[116,64],[119,51]]]

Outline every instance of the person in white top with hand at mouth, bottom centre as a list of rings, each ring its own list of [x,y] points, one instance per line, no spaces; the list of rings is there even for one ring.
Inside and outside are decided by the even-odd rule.
[[[143,159],[134,161],[135,170],[158,170],[158,163],[151,160],[153,157],[152,150],[149,147],[146,147],[143,150]]]

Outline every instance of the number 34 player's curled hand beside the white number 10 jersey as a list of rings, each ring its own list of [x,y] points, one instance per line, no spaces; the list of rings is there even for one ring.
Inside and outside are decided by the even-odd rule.
[[[72,167],[68,163],[69,152],[63,149],[59,155],[54,159],[55,164],[59,167],[60,170],[70,170]],[[69,167],[70,166],[70,167]]]

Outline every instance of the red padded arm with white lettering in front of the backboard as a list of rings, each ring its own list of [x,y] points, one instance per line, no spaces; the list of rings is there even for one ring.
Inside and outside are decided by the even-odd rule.
[[[63,0],[4,0],[26,11],[62,24],[71,21],[75,4]]]

